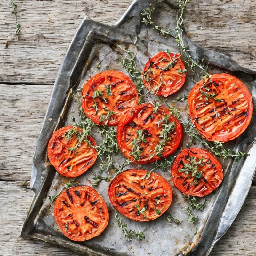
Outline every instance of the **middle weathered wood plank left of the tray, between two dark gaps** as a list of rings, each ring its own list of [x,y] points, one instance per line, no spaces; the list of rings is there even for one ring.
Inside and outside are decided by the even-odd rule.
[[[52,85],[0,84],[0,180],[30,180]]]

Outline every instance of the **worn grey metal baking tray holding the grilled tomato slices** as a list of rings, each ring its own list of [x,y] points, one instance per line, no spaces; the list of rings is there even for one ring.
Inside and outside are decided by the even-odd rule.
[[[247,196],[256,168],[256,74],[239,66],[222,53],[205,50],[191,41],[184,33],[184,43],[191,50],[190,54],[198,60],[204,59],[213,72],[227,72],[241,79],[252,93],[254,104],[251,124],[235,142],[228,145],[233,148],[234,152],[241,150],[249,152],[251,155],[237,163],[230,159],[223,161],[219,158],[224,169],[223,182],[215,192],[205,197],[207,206],[203,212],[193,210],[193,214],[199,217],[198,235],[194,235],[195,227],[187,221],[188,216],[184,212],[188,203],[182,193],[173,186],[170,173],[164,173],[161,170],[156,170],[156,172],[163,175],[173,189],[173,201],[168,212],[183,220],[182,225],[168,224],[165,215],[153,221],[138,223],[119,213],[119,217],[124,223],[127,223],[128,228],[135,230],[146,228],[144,232],[146,239],[127,241],[116,223],[115,210],[108,198],[108,182],[106,181],[102,181],[96,188],[105,200],[110,214],[108,227],[100,236],[85,242],[74,242],[66,238],[55,223],[53,204],[48,196],[58,194],[70,179],[61,176],[52,166],[45,164],[47,161],[46,148],[56,129],[70,125],[72,117],[76,117],[76,119],[78,117],[77,102],[72,93],[79,96],[79,92],[76,93],[76,90],[99,71],[119,70],[128,74],[117,59],[117,51],[122,52],[117,44],[122,48],[138,52],[136,64],[140,71],[143,70],[147,60],[159,51],[170,49],[179,52],[172,37],[163,37],[152,27],[141,23],[140,12],[143,8],[148,8],[149,4],[156,8],[152,16],[156,24],[161,22],[163,29],[176,27],[177,7],[175,5],[173,6],[167,1],[136,0],[113,26],[101,24],[85,17],[78,28],[58,71],[43,128],[38,137],[31,174],[31,187],[35,196],[24,221],[22,238],[41,239],[91,256],[124,255],[124,252],[129,256],[148,254],[203,256],[211,252],[214,244],[224,235],[236,218]],[[100,61],[101,65],[98,69],[96,64]],[[189,116],[187,102],[177,102],[174,99],[184,93],[188,94],[193,85],[192,75],[188,71],[186,83],[182,89],[167,99],[167,102],[175,104],[185,120],[188,120]],[[146,94],[146,89],[144,94]],[[143,101],[157,99],[156,96],[147,94]],[[93,130],[92,136],[96,143],[100,144],[101,137],[97,128]],[[123,163],[125,158],[119,152],[115,156],[115,160],[118,163]],[[98,159],[93,167],[78,177],[76,181],[92,185],[94,180],[92,180],[91,171],[97,172],[99,163]],[[134,167],[151,169],[150,164],[130,164],[127,169]]]

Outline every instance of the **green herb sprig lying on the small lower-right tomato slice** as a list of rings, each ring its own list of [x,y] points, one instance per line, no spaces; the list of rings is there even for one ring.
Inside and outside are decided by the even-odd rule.
[[[196,161],[196,156],[189,157],[187,159],[190,164],[185,163],[184,167],[181,168],[178,172],[185,172],[186,174],[189,174],[191,177],[195,177],[194,183],[197,183],[197,179],[202,178],[203,171],[198,172],[198,165],[203,166],[203,157],[199,159],[199,161]]]

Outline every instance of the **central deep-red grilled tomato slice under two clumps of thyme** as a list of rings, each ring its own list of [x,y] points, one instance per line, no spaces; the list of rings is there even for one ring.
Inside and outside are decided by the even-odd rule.
[[[140,160],[133,161],[135,164],[148,164],[152,163],[158,159],[166,158],[167,156],[170,156],[173,154],[176,149],[179,147],[182,136],[183,136],[183,127],[182,124],[172,115],[170,115],[170,111],[167,108],[164,108],[162,105],[159,106],[159,110],[157,114],[154,114],[153,112],[154,107],[150,103],[140,104],[136,107],[134,107],[131,111],[127,112],[120,120],[118,126],[117,126],[117,133],[116,133],[116,139],[119,149],[122,151],[124,156],[128,158],[129,160],[134,160],[134,157],[131,156],[132,149],[131,149],[131,143],[132,143],[132,137],[130,137],[129,141],[127,142],[127,136],[130,133],[133,133],[133,137],[136,138],[136,131],[143,129],[144,131],[148,131],[149,134],[152,136],[147,137],[147,144],[143,144],[145,146],[145,149],[141,152]],[[142,113],[142,114],[141,114]],[[143,119],[143,116],[146,114],[152,115],[152,120],[148,119],[148,121],[144,124],[145,120]],[[141,117],[139,118],[138,115]],[[169,116],[169,123],[175,122],[176,126],[174,129],[174,132],[169,136],[171,140],[166,142],[166,145],[164,146],[164,151],[162,152],[161,156],[158,155],[152,155],[152,152],[154,152],[154,148],[156,145],[160,142],[160,129],[158,128],[158,125],[154,123],[154,121],[159,121],[163,118],[163,116]],[[148,118],[148,117],[147,117]],[[135,129],[130,128],[132,122],[136,121],[136,127]],[[148,152],[148,153],[145,153]]]

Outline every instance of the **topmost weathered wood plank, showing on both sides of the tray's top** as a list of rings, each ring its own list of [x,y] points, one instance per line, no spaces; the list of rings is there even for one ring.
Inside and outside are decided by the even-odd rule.
[[[9,0],[0,2],[0,82],[53,84],[63,55],[82,18],[115,23],[132,0],[16,1],[21,24],[14,38],[15,18]],[[184,25],[189,36],[206,48],[227,53],[256,69],[256,2],[254,0],[191,1]],[[201,29],[202,28],[202,29]],[[5,42],[9,47],[4,49]]]

